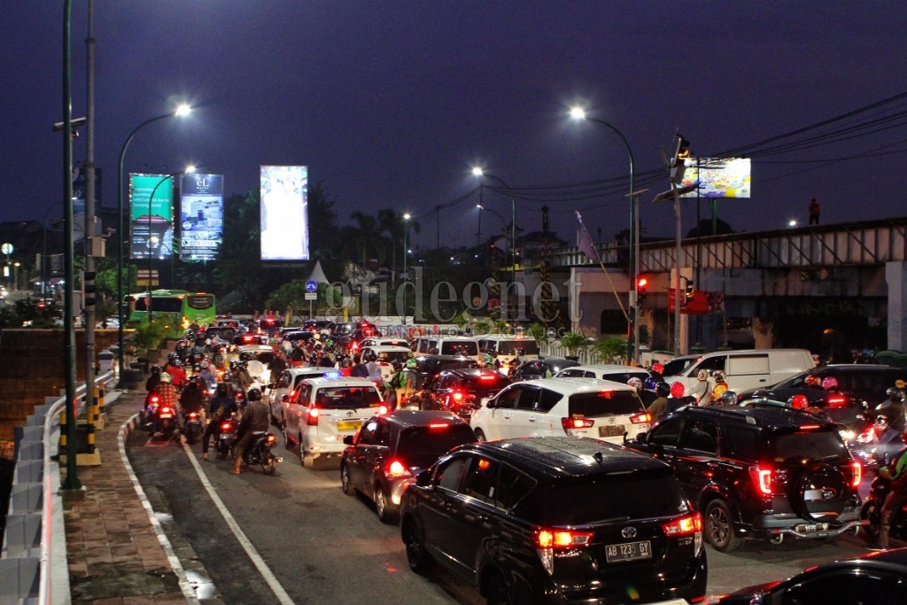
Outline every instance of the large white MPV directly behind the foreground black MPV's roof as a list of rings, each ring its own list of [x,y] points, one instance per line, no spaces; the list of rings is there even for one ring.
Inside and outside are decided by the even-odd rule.
[[[543,378],[504,388],[473,412],[480,441],[512,437],[595,437],[622,444],[649,431],[652,416],[628,385],[595,378]]]

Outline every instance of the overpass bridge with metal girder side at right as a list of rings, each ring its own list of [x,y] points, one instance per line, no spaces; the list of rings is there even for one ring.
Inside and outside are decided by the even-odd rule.
[[[617,298],[626,307],[629,297],[629,250],[616,242],[596,248],[610,279],[577,248],[552,250],[549,262],[579,284],[571,300],[581,316],[574,326],[615,333],[622,318]],[[729,328],[749,331],[741,346],[907,350],[907,217],[688,238],[677,256],[674,239],[640,245],[650,346],[673,348],[667,291],[678,268],[681,288],[692,283],[723,301],[707,314],[682,316],[683,352],[696,342],[707,349],[727,343]],[[845,360],[840,350],[834,360]]]

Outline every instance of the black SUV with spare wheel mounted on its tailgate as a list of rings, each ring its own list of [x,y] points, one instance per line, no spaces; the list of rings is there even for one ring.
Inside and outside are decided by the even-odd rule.
[[[827,538],[862,524],[861,466],[837,425],[815,415],[687,406],[627,445],[674,466],[717,551],[734,551],[748,537]]]

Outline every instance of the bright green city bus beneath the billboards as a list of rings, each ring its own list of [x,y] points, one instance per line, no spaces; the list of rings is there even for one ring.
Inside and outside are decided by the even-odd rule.
[[[149,293],[127,295],[124,304],[129,308],[129,321],[142,322],[148,316]],[[186,290],[152,290],[151,318],[170,319],[170,337],[180,337],[194,321],[200,326],[213,326],[217,316],[214,295]]]

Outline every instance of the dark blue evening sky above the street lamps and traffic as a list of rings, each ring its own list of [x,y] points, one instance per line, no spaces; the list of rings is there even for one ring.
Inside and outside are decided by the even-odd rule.
[[[74,117],[85,112],[86,14],[74,0]],[[51,132],[62,15],[62,0],[0,3],[0,220],[40,220],[63,195]],[[194,162],[244,192],[257,189],[259,164],[307,164],[342,222],[353,210],[423,214],[423,246],[435,243],[424,213],[472,190],[476,162],[518,190],[523,229],[541,229],[544,204],[573,243],[573,210],[593,235],[626,229],[626,182],[583,200],[543,189],[629,173],[614,133],[566,117],[574,102],[626,135],[643,174],[660,168],[658,147],[677,128],[706,157],[907,92],[899,2],[95,0],[94,26],[105,205],[116,203],[129,132],[186,100],[199,109],[142,130],[126,171]],[[720,218],[782,228],[806,219],[813,196],[823,222],[902,216],[905,108],[880,108],[889,119],[872,135],[863,124],[834,144],[756,157],[753,198],[722,201]],[[84,137],[74,155],[83,159]],[[646,234],[672,234],[670,206],[650,203],[667,177],[645,186]],[[509,219],[506,197],[485,202]],[[474,204],[442,211],[442,244],[475,243]],[[695,207],[685,204],[684,230]],[[500,222],[486,213],[483,236]]]

